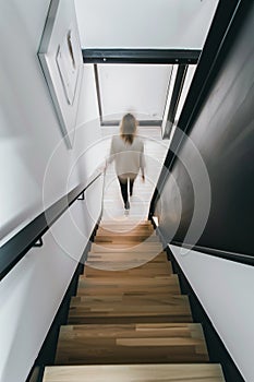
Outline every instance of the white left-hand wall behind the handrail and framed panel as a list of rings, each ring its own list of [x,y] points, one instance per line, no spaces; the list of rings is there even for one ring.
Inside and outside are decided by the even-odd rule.
[[[64,0],[65,1],[65,0]],[[69,1],[69,0],[68,0]],[[1,243],[101,162],[93,67],[86,65],[68,150],[37,59],[49,1],[0,1]],[[90,148],[92,147],[92,148]],[[93,158],[87,157],[93,152]],[[101,179],[0,283],[0,381],[23,382],[100,213]],[[96,203],[93,203],[94,201]]]

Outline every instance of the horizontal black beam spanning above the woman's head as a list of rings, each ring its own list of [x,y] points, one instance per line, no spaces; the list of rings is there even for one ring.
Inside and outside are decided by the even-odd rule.
[[[196,63],[198,49],[82,49],[84,63]]]

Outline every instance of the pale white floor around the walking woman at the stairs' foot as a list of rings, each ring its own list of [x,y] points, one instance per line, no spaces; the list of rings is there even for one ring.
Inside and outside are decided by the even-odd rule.
[[[101,129],[102,135],[107,141],[106,150],[109,152],[110,138],[112,134],[119,133],[119,128]],[[133,196],[130,199],[131,208],[129,212],[124,211],[114,165],[111,164],[106,171],[105,178],[102,222],[114,220],[121,223],[130,220],[137,224],[148,216],[150,200],[168,151],[169,141],[161,139],[159,127],[141,127],[138,135],[144,140],[145,144],[145,182],[142,181],[141,175],[138,175],[134,183]]]

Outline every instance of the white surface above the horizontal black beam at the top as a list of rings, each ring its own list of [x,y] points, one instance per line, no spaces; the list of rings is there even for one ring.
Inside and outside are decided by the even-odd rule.
[[[219,0],[74,0],[83,48],[201,49]]]

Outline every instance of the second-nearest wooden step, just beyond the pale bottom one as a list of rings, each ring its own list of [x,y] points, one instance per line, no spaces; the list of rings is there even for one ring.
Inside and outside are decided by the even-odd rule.
[[[66,325],[56,365],[207,362],[199,324]]]

